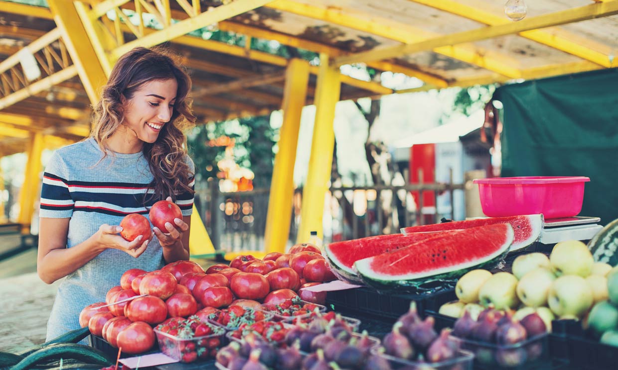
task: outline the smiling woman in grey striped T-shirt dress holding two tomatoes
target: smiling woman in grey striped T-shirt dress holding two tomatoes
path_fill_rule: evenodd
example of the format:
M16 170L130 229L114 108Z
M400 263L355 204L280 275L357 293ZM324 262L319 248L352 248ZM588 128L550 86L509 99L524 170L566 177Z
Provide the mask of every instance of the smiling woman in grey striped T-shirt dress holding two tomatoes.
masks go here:
M103 302L130 268L153 271L188 260L193 162L180 128L194 122L191 80L167 52L138 47L114 65L96 105L90 138L56 151L41 190L37 270L60 284L47 339L78 329L83 307ZM148 216L172 200L182 220L149 240L119 236L129 213Z

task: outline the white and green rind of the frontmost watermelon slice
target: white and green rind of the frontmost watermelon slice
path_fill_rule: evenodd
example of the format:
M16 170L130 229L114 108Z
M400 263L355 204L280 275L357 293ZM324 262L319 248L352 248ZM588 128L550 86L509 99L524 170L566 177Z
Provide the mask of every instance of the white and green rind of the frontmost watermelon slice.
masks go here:
M483 226L481 226L483 227ZM474 261L466 261L459 265L451 265L444 268L438 268L431 271L425 271L420 274L405 274L405 275L386 275L377 273L371 268L371 261L375 257L365 258L356 261L354 268L358 275L362 278L363 283L373 287L380 292L390 292L397 290L399 292L405 290L415 290L418 286L428 284L430 282L451 281L459 279L468 271L473 269L491 269L499 265L510 250L514 238L512 226L509 224L507 228L505 241L491 255L485 256Z

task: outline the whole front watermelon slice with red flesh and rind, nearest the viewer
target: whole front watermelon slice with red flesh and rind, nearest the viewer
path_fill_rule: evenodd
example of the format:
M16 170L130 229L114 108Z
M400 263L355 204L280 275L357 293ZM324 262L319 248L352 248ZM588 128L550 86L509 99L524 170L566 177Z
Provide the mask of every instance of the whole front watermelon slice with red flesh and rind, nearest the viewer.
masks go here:
M431 281L458 279L477 268L493 268L514 239L510 224L454 231L394 252L356 261L363 281L378 290L405 290Z

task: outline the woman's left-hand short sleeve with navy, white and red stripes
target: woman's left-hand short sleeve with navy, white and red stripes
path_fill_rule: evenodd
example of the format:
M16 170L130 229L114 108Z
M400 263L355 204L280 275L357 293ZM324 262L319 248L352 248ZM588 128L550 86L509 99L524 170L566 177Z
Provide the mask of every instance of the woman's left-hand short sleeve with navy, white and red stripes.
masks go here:
M69 171L56 153L49 159L41 184L41 209L39 217L70 218L75 202L69 192Z

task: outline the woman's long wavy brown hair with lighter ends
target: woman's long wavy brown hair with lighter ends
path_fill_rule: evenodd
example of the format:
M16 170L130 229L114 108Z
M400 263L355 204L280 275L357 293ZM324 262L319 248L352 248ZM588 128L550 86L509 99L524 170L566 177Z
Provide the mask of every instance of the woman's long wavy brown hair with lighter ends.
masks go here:
M187 97L191 91L191 79L179 62L179 57L167 49L135 47L122 55L112 68L108 82L103 86L101 99L94 107L94 127L91 137L108 154L106 142L124 121L121 96L130 99L135 91L150 81L175 79L178 83L176 103L172 117L159 132L153 143L145 142L143 155L148 161L154 179L149 187L154 190L155 199L193 190L188 185L194 176L185 158L187 146L184 130L195 123L192 101ZM146 202L146 198L145 198Z

